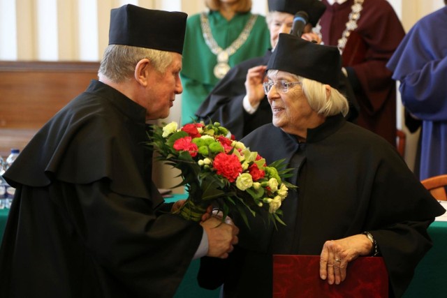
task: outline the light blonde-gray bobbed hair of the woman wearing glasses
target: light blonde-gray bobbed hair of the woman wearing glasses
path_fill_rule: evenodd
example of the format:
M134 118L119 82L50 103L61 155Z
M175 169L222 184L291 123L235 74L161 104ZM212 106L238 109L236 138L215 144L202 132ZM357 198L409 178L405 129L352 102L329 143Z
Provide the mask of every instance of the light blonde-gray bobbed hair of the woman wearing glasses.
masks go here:
M268 70L269 77L277 75L278 70ZM325 84L315 80L300 77L291 73L293 80L302 82L302 93L305 94L307 102L312 110L325 117L342 113L346 116L349 112L349 103L346 97L334 87L330 88L329 98L326 95Z

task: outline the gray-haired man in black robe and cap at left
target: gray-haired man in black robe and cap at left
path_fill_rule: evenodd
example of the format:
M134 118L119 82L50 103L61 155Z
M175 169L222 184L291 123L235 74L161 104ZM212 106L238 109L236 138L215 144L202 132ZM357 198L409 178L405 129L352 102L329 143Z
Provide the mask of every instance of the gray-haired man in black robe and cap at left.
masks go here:
M2 297L173 297L194 257L228 257L237 228L171 214L143 144L146 121L167 117L182 93L186 17L112 9L99 80L3 175L16 192L0 250Z

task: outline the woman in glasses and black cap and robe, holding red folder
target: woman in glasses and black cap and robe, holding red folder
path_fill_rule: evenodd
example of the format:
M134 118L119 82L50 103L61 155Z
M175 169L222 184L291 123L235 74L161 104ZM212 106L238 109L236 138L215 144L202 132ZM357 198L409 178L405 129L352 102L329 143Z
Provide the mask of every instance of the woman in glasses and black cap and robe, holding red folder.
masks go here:
M261 218L250 217L250 228L239 225L240 241L228 259L202 258L199 285L223 284L226 298L270 298L272 255L320 255L319 274L330 285L356 278L349 276L352 260L380 255L390 297L401 297L432 246L428 226L446 210L395 147L346 121L337 47L280 33L267 70L263 87L272 124L241 141L267 163L284 158L296 169L289 182L298 191L281 204L286 225L266 228Z

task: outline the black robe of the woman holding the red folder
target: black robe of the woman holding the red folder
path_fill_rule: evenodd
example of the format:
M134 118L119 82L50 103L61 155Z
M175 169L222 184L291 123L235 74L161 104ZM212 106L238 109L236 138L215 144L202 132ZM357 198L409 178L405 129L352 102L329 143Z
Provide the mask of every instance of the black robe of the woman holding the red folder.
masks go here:
M286 227L274 230L256 216L249 230L234 216L240 244L228 260L201 260L200 285L224 283L223 297L272 297L272 255L320 255L327 240L369 231L388 269L390 297L402 296L432 246L427 227L445 210L394 147L341 115L309 129L305 145L272 124L242 142L267 163L302 157L298 191L281 206Z

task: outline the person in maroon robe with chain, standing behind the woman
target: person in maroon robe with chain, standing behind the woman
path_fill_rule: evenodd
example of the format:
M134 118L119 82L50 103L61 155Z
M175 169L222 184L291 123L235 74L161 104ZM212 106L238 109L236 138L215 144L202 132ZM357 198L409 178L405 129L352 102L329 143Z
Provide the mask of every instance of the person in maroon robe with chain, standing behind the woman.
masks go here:
M322 0L326 10L316 32L342 53L356 95L357 124L396 144L396 83L386 63L405 31L386 0Z

